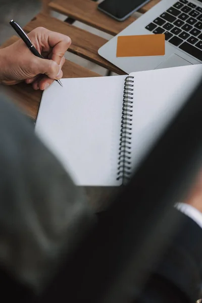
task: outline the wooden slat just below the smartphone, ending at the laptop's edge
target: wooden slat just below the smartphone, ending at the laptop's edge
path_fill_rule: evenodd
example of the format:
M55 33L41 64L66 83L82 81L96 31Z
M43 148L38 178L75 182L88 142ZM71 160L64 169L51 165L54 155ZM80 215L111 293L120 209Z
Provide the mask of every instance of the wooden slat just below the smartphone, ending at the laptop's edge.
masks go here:
M129 17L123 22L116 21L98 11L97 3L92 0L56 0L49 7L111 35L116 35L135 20L134 17Z

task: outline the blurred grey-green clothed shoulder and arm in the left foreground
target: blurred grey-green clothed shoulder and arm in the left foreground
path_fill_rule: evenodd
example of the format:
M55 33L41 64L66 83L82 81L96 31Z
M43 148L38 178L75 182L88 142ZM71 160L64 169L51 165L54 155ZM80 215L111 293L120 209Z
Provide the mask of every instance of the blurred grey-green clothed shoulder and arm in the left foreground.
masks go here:
M1 292L13 279L40 293L93 217L82 189L0 95Z

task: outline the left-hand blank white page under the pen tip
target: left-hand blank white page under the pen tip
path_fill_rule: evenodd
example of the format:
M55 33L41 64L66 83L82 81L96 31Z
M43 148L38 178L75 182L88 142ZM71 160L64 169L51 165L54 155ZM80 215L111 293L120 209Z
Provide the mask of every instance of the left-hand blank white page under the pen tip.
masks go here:
M78 185L120 185L125 76L62 79L42 96L36 133Z

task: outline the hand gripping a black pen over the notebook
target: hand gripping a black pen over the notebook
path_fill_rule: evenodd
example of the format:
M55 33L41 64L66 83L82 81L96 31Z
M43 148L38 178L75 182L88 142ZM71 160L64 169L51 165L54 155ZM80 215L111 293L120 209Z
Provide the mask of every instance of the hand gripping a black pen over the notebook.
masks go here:
M25 80L34 89L46 89L54 79L63 76L64 54L71 44L70 37L43 27L32 30L28 37L37 51L47 59L34 56L19 39L0 50L0 83L13 85Z

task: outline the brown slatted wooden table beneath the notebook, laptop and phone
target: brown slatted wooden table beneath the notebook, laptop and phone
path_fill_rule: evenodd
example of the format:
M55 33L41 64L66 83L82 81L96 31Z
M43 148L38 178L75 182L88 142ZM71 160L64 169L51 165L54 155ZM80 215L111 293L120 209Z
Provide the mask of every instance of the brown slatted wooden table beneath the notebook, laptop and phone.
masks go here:
M160 0L151 0L140 10L140 12L145 13L158 2L160 2ZM80 29L74 26L74 24L68 24L67 22L49 16L48 14L51 10L62 13L67 17L71 17L74 20L83 22L111 35L116 35L131 24L135 20L134 17L130 17L124 22L118 22L98 11L97 3L92 0L55 0L53 2L43 0L43 12L35 16L24 27L26 32L29 32L38 26L43 26L50 30L67 34L72 39L72 44L68 49L68 52L105 67L109 71L113 71L120 75L125 74L122 70L97 54L98 48L107 42L106 39ZM13 36L1 47L6 47L14 43L17 39L18 37ZM99 76L68 60L66 60L64 64L63 74L64 78ZM5 89L22 111L31 119L36 120L42 92L34 91L31 85L25 83L20 83L12 87L5 87ZM85 187L85 190L91 204L95 206L96 210L100 210L100 208L105 207L110 196L119 189L112 189L111 187Z

